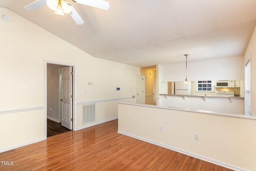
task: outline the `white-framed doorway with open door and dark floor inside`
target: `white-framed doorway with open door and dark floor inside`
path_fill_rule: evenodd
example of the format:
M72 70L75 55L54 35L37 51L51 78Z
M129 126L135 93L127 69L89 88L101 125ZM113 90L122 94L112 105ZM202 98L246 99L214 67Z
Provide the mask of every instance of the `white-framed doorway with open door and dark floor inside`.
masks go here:
M45 68L47 72L45 72L44 137L46 139L51 135L74 130L76 83L74 82L75 65L45 62Z

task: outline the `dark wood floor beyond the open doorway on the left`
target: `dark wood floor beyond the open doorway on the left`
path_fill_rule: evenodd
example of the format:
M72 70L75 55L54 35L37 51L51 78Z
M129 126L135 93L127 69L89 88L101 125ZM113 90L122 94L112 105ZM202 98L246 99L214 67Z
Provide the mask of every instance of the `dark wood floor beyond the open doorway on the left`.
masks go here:
M61 126L61 123L47 119L47 137L58 135L70 131L68 128Z

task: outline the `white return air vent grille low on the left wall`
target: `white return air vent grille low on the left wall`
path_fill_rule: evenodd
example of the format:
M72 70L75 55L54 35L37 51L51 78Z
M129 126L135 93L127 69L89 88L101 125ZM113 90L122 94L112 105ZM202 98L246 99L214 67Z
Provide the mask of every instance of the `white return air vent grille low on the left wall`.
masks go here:
M83 105L82 124L95 122L95 103Z

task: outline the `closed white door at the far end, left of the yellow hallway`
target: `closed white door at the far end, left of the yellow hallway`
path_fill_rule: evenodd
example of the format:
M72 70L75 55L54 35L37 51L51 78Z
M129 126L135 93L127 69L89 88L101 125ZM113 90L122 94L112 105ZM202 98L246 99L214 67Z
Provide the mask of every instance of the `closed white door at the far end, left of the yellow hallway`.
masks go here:
M145 104L145 76L137 75L136 103Z

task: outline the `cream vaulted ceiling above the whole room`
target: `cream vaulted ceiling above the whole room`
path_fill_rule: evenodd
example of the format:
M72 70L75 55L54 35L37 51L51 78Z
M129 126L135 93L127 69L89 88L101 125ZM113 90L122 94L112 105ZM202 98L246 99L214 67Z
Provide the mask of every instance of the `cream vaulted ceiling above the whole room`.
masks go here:
M243 56L256 25L256 0L106 0L109 10L70 2L84 20L58 16L35 0L0 0L95 58L140 67Z

